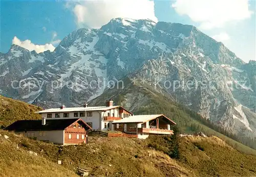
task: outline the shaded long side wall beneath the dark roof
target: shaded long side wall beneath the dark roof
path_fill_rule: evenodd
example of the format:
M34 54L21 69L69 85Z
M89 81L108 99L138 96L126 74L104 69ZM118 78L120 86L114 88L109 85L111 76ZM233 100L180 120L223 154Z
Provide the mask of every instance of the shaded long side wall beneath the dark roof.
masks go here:
M50 141L55 144L64 144L64 130L53 131L25 131L20 132L26 137L36 137L38 141ZM32 136L32 133L34 134Z

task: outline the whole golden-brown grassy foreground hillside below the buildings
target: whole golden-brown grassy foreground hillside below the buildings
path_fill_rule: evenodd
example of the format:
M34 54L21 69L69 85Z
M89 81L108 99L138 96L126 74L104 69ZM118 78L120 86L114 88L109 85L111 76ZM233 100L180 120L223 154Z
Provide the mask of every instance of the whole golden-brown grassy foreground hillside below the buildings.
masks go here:
M180 158L172 159L168 154L173 140L168 136L96 136L89 137L87 145L59 147L3 130L0 134L0 173L6 176L73 176L77 166L89 169L91 176L256 175L256 156L240 153L217 137L182 137Z

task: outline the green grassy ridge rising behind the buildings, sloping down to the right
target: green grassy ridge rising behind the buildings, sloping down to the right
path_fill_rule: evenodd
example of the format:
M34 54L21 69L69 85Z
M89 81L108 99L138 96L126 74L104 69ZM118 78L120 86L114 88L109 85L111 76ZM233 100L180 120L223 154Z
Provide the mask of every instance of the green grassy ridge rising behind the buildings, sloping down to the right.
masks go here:
M189 113L182 107L179 107L168 94L159 93L154 87L146 83L141 84L139 79L132 84L130 79L126 78L124 79L124 85L124 89L111 89L106 91L90 103L93 105L102 105L102 102L112 98L115 103L126 107L125 104L127 98L133 97L129 102L132 102L132 105L138 105L127 108L132 110L134 114L164 114L174 120L179 126L180 131L183 133L194 133L193 130L191 130L191 125L194 125L199 131L203 131L204 134L208 136L218 136L241 152L256 155L256 150L220 134L220 132L203 125L198 120L191 117ZM145 89L138 89L139 86L143 86ZM119 86L119 88L121 88L121 86ZM143 97L140 96L139 99L136 99L139 93L143 95Z

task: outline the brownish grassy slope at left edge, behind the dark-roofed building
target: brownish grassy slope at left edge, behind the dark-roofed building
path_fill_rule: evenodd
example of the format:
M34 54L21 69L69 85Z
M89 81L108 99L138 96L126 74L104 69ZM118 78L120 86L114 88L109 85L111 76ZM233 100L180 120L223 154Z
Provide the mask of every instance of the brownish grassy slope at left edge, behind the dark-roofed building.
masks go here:
M40 119L34 112L40 107L0 95L0 127L8 126L17 120Z

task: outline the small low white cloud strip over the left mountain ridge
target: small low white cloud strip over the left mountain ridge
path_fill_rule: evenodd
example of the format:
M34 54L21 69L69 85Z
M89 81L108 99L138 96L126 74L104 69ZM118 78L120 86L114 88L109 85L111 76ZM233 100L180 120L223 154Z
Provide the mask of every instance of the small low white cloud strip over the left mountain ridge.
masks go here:
M50 50L51 52L54 51L55 47L51 43L46 43L45 45L35 45L31 42L31 40L19 40L16 36L12 39L12 44L18 45L20 47L23 47L29 51L35 50L36 53L45 52L47 50Z

